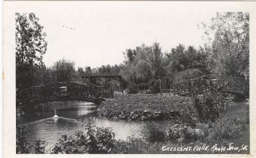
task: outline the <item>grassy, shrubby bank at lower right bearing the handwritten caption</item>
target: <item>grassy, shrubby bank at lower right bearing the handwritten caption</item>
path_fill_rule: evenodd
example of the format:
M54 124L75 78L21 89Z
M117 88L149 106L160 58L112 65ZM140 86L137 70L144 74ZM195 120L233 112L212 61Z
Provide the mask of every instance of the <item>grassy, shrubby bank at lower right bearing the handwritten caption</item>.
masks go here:
M118 154L249 154L249 123L248 118L243 118L200 123L196 124L195 128L184 125L172 126L169 131L161 131L153 127L144 140L129 138L127 141L117 141L112 152ZM154 137L157 139L152 139ZM246 145L248 146L245 147Z

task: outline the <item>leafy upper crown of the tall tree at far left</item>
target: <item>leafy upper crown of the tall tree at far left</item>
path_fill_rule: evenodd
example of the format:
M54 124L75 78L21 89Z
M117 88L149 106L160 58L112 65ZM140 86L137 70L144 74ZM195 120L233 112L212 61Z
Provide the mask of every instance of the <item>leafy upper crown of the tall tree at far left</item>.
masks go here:
M33 65L42 62L47 50L46 33L35 13L16 13L16 63Z

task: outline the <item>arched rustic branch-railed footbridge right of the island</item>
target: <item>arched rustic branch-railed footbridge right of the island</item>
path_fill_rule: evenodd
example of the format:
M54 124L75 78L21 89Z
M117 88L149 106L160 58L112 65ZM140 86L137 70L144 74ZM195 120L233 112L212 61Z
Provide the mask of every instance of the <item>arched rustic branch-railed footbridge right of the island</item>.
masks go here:
M180 96L202 94L205 89L246 97L249 95L250 85L248 78L226 75L204 75L172 84L173 94Z

